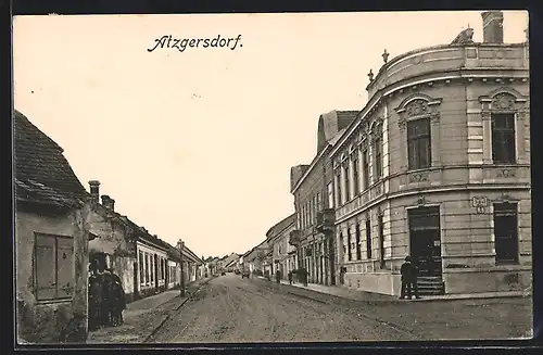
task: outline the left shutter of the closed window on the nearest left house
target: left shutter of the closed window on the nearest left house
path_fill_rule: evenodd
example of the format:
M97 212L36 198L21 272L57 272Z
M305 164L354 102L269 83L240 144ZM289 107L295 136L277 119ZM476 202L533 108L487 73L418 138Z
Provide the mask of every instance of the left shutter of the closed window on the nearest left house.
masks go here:
M52 300L56 293L54 241L51 236L36 234L36 299Z

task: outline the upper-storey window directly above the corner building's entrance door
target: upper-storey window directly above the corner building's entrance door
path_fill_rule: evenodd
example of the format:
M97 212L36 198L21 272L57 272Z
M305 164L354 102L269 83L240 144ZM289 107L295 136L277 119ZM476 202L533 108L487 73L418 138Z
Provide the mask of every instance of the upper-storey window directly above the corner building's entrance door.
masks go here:
M407 122L407 154L411 170L430 167L430 118Z

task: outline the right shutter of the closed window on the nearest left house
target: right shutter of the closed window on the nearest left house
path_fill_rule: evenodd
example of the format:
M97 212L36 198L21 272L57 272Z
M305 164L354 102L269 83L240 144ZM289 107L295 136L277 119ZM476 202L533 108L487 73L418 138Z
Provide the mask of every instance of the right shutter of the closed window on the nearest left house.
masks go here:
M71 297L74 294L74 240L72 238L56 239L56 280L59 299Z

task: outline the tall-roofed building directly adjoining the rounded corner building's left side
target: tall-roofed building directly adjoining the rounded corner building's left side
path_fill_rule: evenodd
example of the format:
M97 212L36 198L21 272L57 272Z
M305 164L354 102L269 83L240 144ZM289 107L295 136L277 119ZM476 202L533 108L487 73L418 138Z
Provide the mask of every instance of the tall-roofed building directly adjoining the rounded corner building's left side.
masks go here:
M298 215L291 244L298 248L298 267L308 271L310 282L336 284L333 169L329 155L334 142L357 113L331 111L320 115L313 162L291 168L291 193Z

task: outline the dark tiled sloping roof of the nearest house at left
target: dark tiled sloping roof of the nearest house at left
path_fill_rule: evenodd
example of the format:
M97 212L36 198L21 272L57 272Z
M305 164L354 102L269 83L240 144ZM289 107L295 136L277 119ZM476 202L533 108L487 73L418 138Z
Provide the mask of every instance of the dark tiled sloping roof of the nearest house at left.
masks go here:
M18 111L13 127L18 202L72 206L89 196L56 142Z

